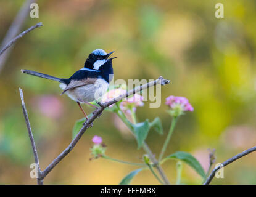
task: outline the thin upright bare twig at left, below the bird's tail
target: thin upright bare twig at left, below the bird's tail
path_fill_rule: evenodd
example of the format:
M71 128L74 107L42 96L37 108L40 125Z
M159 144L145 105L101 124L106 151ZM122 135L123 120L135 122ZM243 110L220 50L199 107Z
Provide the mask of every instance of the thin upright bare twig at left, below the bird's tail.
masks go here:
M25 102L24 102L24 97L23 97L23 91L22 89L20 89L20 99L22 100L22 111L23 111L23 115L26 121L26 125L27 125L27 129L28 129L28 136L30 137L30 142L31 142L31 146L33 149L33 153L34 153L34 158L35 158L35 163L36 163L36 168L38 171L38 185L43 184L43 180L40 179L40 174L41 174L41 170L40 170L40 164L39 164L39 159L38 159L38 152L36 150L36 143L32 134L32 129L30 126L30 121L28 119L28 113L27 113L27 109L25 106Z

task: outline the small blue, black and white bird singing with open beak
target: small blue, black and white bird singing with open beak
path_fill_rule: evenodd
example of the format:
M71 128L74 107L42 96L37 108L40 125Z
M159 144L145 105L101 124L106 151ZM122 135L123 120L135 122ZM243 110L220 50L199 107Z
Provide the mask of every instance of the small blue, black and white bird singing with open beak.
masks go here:
M31 70L21 70L22 73L31 74L45 79L60 82L60 88L80 107L85 118L88 119L80 103L86 103L98 108L89 102L98 101L107 91L109 82L113 79L112 60L117 57L109 58L114 51L107 54L102 49L96 49L89 54L85 61L84 68L76 71L70 78L56 78L48 74L38 73Z

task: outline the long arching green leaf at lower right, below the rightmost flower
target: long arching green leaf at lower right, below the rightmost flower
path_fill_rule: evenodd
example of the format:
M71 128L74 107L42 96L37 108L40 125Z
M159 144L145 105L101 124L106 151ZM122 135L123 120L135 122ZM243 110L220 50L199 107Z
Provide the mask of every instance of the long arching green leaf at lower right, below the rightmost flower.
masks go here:
M204 169L202 168L201 164L190 153L186 153L183 151L177 151L176 153L173 153L173 154L167 156L165 159L179 159L179 160L183 161L184 163L188 164L189 166L191 166L192 168L194 168L194 170L199 175L201 175L202 177L205 177L205 172L204 172Z

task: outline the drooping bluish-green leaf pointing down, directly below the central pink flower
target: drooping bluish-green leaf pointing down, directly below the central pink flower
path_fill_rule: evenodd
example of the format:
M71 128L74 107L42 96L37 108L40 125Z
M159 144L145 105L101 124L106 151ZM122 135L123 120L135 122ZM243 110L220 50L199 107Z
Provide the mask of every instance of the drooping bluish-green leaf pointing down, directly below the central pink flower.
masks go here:
M144 140L146 140L149 129L149 121L147 119L145 122L133 124L133 131L138 142L138 148L141 148Z

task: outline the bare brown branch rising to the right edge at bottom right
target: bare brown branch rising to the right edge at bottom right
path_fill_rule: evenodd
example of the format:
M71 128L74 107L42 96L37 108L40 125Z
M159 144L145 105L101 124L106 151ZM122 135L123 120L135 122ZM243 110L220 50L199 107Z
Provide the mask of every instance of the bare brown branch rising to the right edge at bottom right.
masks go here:
M221 163L224 166L227 166L228 164L232 163L233 161L236 161L237 159L240 159L241 157L243 156L246 156L247 154L249 153L252 153L253 151L256 151L256 147L252 147L252 148L249 148L245 151L242 151L242 153L239 153L235 156L233 156L232 158L224 161L223 163ZM209 177L207 178L207 180L205 181L204 185L209 185L210 182L212 181L215 173L221 168L221 165L218 166L218 167L215 167L215 169L213 169L212 173L209 175Z

